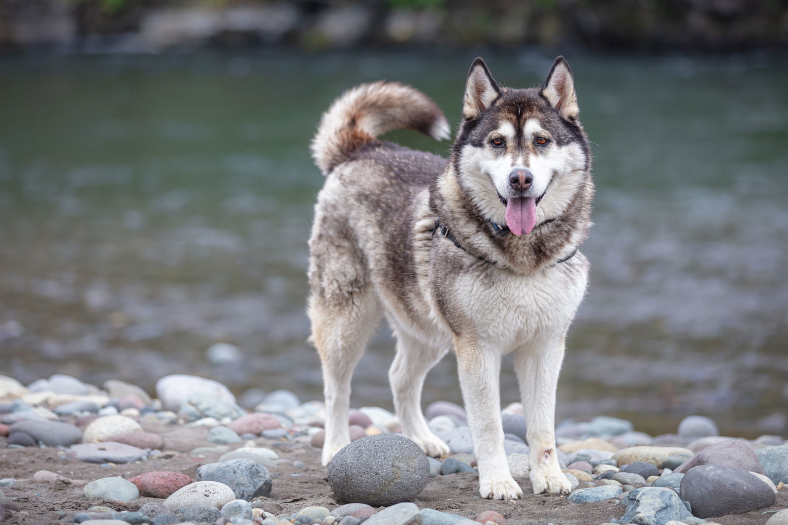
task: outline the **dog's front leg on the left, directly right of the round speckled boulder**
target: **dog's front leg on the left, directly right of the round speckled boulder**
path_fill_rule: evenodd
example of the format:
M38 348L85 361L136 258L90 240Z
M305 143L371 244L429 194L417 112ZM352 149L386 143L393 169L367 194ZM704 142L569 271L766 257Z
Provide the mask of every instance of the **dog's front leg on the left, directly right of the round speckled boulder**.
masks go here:
M515 500L520 486L509 473L500 419L500 351L479 341L455 341L459 384L479 465L479 493L495 500Z

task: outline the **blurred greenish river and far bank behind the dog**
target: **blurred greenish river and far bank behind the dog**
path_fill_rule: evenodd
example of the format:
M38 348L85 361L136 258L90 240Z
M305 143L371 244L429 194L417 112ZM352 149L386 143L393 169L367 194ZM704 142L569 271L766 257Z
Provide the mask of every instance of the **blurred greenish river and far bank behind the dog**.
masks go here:
M786 44L782 0L0 0L0 373L321 399L304 304L322 112L399 80L456 126L474 57L532 87L563 54L598 190L558 419L786 434ZM392 408L392 356L383 326L355 406ZM511 359L502 385L518 400ZM451 356L439 399L460 400Z

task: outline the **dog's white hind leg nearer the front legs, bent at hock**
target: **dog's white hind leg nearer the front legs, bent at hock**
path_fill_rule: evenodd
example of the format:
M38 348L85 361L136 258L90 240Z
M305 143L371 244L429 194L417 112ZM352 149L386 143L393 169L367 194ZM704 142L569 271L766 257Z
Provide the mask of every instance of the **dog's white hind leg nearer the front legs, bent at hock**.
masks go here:
M448 446L429 430L422 413L422 387L427 372L446 355L448 348L433 348L396 330L396 357L388 370L394 408L403 435L422 447L427 456L444 456Z

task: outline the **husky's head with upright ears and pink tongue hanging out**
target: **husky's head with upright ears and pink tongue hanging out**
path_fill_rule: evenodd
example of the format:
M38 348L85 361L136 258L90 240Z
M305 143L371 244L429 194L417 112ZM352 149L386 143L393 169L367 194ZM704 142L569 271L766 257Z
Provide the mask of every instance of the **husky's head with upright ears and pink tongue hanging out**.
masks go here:
M567 61L538 88L501 87L477 58L468 72L463 123L452 149L460 184L481 213L515 235L563 212L590 167ZM537 209L537 207L539 207Z

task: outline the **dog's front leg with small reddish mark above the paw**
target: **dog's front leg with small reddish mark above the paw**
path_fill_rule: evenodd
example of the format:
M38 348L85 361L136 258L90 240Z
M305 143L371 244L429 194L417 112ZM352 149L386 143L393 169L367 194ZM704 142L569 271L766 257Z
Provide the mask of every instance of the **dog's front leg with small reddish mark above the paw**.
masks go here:
M556 385L563 361L564 336L548 337L515 354L515 367L526 412L533 493L568 494L571 483L556 454Z

